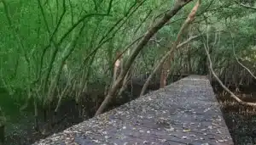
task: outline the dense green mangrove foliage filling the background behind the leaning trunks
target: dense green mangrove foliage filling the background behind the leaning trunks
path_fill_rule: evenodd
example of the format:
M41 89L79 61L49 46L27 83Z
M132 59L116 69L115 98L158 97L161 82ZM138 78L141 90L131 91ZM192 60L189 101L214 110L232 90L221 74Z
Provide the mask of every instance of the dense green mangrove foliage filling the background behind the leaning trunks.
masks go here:
M96 79L109 85L115 53L125 51L125 47L148 31L174 1L6 0L6 3L6 6L0 4L0 14L5 16L0 20L0 87L9 94L22 90L46 100L55 96L51 92L64 90L62 83L80 91L87 82ZM152 37L134 64L137 75L154 68L175 40L194 4L183 8ZM251 49L256 42L255 12L233 1L204 1L183 41L200 35L200 30L204 36L209 35L214 64L227 64L223 62L234 59L233 42L238 56L255 59L251 52L255 52ZM137 42L128 51L136 45ZM190 42L185 47L192 55L193 71L198 70L206 57L202 41ZM186 52L176 53L175 65L188 64ZM124 57L128 55L125 53Z

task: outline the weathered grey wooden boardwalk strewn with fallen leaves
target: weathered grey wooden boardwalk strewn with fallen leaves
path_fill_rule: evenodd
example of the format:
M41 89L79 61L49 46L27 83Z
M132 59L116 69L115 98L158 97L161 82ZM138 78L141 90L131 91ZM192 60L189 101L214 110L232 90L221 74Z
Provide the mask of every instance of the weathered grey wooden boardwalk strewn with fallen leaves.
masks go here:
M212 86L190 75L34 145L234 144Z

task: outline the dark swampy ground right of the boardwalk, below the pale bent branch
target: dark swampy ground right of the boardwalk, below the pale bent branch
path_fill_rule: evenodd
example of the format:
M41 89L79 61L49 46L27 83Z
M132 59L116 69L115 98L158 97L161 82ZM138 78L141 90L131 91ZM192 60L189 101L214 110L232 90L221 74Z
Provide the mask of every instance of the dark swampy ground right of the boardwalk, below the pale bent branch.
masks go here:
M243 101L256 102L256 95L247 96ZM229 95L218 97L222 106L224 120L229 127L235 145L256 144L256 107L241 105Z

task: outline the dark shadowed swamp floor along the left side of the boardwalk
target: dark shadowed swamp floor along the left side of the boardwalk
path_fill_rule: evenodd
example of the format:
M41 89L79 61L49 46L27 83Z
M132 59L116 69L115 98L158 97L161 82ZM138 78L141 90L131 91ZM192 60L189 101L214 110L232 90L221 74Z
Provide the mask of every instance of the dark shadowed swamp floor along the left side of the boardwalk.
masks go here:
M32 104L28 104L26 109L20 109L26 103L26 99L20 99L19 96L10 97L8 93L4 92L1 92L0 96L0 106L7 119L5 125L6 145L30 145L32 142L36 142L41 138L62 131L84 120L79 117L79 111L76 108L77 105L75 102L69 101L62 103L61 112L56 117L56 119L61 120L61 122L55 125L54 128L45 130L48 132L42 134L42 132L38 132L34 129L35 118ZM48 115L53 114L52 111L51 114ZM49 122L44 122L43 109L38 109L38 125L40 131L43 131L44 128L47 129L49 125Z

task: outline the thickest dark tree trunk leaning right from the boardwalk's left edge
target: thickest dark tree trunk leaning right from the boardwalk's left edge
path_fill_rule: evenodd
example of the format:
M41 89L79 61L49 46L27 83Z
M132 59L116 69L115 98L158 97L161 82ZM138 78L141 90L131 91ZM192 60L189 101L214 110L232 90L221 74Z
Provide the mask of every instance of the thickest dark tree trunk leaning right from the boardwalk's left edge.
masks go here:
M131 56L127 59L127 63L125 64L124 70L122 70L121 74L117 78L117 80L113 83L113 86L110 88L108 95L102 102L99 109L97 109L96 114L102 114L104 109L107 108L108 103L112 100L113 95L118 91L119 87L122 85L122 82L125 78L125 75L127 74L128 70L131 67L131 64L134 62L134 60L137 58L138 53L143 49L143 47L148 43L149 39L154 36L154 34L159 31L165 24L168 22L177 12L183 8L186 4L189 2L192 2L193 0L177 0L174 7L167 11L166 14L163 16L163 18L158 21L153 27L151 27L146 34L143 36L143 39L138 43L137 47L134 49L134 51L131 53Z

